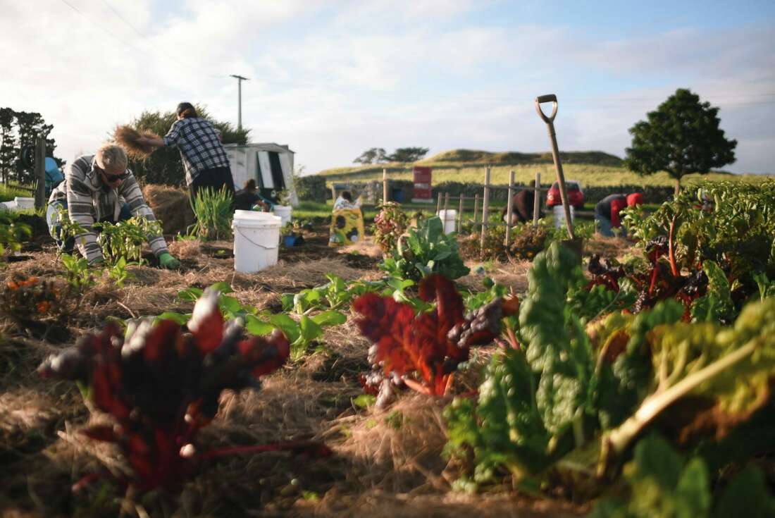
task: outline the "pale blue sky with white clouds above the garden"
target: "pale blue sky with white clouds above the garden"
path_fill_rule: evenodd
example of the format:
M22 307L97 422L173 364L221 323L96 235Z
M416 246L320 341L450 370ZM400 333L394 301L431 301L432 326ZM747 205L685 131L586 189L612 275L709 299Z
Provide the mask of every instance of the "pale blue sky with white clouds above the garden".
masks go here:
M312 174L363 150L624 157L677 88L718 106L735 173L775 173L775 2L0 0L0 106L40 112L57 157L178 102L288 144Z

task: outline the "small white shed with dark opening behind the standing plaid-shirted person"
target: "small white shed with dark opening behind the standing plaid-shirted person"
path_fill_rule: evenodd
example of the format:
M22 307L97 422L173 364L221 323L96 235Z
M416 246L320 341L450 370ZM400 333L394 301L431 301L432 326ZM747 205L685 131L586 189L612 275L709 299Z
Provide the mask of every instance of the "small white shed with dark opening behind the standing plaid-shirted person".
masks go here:
M294 152L288 146L276 143L246 143L226 144L224 149L229 157L237 189L253 179L261 195L275 199L277 192L288 190L291 205L298 205L298 196L293 185Z

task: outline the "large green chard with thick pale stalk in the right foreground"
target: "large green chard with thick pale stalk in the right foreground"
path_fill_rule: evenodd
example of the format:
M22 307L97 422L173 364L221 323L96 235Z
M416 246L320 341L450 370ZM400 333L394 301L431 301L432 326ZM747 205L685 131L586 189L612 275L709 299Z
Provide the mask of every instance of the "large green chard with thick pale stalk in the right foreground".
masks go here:
M447 451L474 483L546 482L567 469L610 475L649 428L669 425L688 447L722 440L768 408L775 299L749 304L732 327L681 322L685 306L668 300L585 328L574 294L587 282L558 243L539 254L516 347L493 358L477 399L446 409Z

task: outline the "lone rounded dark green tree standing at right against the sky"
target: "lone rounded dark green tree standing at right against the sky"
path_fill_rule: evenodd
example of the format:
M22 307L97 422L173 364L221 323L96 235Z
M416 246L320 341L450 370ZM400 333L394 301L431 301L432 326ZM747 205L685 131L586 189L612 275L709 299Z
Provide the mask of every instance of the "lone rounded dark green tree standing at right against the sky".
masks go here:
M718 127L718 108L690 90L677 89L646 116L629 129L632 147L625 165L642 175L667 171L676 181L676 194L684 175L706 174L735 161L737 140L727 140Z

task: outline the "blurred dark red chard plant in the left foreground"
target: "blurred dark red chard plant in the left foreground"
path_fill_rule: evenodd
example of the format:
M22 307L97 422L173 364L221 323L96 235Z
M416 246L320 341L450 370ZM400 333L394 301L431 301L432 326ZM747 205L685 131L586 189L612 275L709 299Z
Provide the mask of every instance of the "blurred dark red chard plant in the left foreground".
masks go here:
M212 456L198 453L196 437L221 392L258 389L260 377L288 359L283 333L244 337L239 320L224 321L217 299L209 291L198 300L190 334L169 319L130 324L126 337L111 323L40 365L44 377L87 386L95 407L111 416L81 433L119 447L132 468L120 484L179 492L197 461Z

